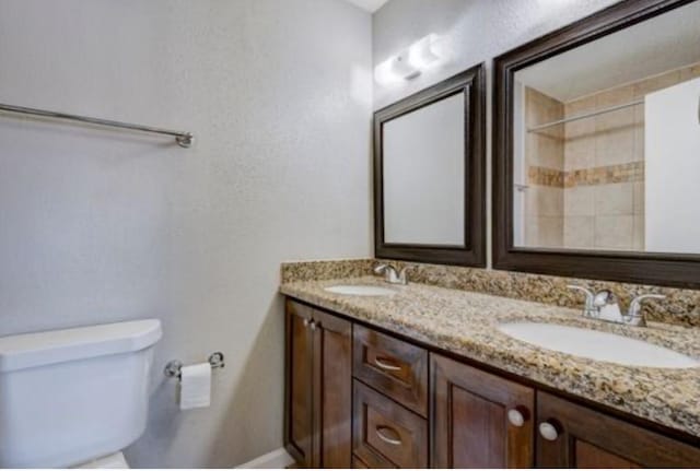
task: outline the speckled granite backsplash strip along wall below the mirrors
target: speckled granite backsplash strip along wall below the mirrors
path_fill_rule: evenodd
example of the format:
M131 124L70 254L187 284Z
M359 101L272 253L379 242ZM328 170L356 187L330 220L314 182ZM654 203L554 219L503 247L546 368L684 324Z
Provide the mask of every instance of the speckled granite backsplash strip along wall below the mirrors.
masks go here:
M644 293L660 293L666 295L666 299L644 304L644 313L650 320L700 327L699 290L375 259L282 263L282 283L366 276L373 274L372 268L380 261L392 263L399 269L410 264L412 269L409 271L409 279L415 283L562 307L583 307L581 293L569 290L568 284L585 285L595 291L611 290L618 296L623 310L627 309L633 296Z

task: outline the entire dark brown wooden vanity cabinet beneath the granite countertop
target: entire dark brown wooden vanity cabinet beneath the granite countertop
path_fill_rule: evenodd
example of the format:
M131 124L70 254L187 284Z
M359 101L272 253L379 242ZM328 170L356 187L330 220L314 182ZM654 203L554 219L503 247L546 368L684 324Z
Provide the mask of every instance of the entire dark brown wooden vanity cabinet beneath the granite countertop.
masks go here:
M303 468L700 468L700 447L291 299L285 341Z

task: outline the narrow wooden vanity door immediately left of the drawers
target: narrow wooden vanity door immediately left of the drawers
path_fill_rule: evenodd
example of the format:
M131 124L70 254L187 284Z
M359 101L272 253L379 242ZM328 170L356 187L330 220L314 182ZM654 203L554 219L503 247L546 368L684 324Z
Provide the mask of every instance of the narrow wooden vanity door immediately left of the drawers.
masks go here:
M314 310L313 468L352 464L352 323ZM318 450L318 452L316 452Z

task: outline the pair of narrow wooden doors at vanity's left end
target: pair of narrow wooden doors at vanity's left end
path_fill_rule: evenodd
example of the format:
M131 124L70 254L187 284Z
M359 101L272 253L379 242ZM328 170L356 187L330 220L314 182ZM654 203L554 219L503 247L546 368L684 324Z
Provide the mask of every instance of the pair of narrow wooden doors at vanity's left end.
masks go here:
M350 468L352 323L287 301L288 451L304 468Z

